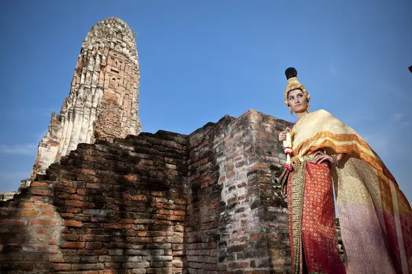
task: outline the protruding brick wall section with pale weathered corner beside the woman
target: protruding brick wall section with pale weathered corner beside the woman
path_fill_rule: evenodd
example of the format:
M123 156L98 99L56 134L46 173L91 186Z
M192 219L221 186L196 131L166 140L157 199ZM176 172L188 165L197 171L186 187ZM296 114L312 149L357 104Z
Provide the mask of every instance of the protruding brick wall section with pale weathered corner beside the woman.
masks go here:
M277 133L287 125L249 111L190 134L189 273L290 270L286 202L275 182L284 163Z

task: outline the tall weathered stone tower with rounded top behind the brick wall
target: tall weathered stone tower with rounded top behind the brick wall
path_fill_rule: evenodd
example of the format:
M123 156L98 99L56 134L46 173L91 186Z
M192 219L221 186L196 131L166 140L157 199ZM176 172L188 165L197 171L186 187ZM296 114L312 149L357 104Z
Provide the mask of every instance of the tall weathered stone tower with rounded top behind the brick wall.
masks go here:
M32 179L53 162L96 138L137 135L139 59L135 38L119 18L106 18L83 41L60 114L52 113L49 130L38 144Z

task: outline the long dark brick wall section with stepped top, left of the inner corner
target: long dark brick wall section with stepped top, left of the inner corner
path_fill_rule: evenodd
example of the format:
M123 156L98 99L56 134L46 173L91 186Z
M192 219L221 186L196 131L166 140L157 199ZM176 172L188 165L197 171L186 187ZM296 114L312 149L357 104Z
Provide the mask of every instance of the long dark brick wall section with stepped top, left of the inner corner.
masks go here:
M186 136L82 144L0 202L2 273L181 273Z

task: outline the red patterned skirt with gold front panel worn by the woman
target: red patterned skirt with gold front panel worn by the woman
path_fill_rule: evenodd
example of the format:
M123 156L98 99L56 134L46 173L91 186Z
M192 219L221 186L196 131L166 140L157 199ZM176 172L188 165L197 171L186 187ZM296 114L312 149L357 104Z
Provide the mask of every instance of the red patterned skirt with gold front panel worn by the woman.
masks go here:
M345 273L329 164L302 162L289 176L287 193L293 273Z

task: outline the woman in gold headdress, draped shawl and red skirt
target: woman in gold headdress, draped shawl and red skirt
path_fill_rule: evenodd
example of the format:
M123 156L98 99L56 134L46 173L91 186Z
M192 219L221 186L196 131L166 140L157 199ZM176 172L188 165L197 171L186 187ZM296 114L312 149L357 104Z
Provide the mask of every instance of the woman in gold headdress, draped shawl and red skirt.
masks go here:
M285 74L285 104L298 119L290 134L279 134L293 154L282 175L293 273L412 273L412 210L396 180L352 128L325 110L308 113L310 95L297 71Z

